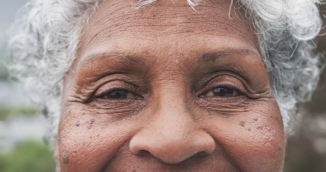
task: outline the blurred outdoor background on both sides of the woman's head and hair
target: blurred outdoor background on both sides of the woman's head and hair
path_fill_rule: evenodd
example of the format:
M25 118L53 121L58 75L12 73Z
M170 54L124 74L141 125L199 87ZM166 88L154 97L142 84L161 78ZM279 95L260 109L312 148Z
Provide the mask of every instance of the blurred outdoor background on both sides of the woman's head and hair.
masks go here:
M0 0L0 172L54 172L53 151L43 141L46 121L28 102L19 83L8 80L6 30L27 0ZM326 4L320 6L325 28L318 51L326 51ZM326 59L325 59L326 60ZM297 117L284 172L326 172L326 72L310 103Z

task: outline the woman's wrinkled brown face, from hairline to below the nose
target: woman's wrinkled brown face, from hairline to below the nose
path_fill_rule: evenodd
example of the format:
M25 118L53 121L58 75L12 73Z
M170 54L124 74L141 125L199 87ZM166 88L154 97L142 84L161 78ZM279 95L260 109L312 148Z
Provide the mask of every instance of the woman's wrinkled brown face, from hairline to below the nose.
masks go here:
M102 3L64 79L61 171L281 171L279 107L229 6Z

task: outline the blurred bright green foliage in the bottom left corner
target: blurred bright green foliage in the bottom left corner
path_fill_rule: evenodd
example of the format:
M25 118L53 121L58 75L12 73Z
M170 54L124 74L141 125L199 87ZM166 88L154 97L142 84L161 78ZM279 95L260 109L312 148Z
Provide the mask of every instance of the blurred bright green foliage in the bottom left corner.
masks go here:
M43 143L26 141L5 155L0 154L1 172L54 172L53 152Z

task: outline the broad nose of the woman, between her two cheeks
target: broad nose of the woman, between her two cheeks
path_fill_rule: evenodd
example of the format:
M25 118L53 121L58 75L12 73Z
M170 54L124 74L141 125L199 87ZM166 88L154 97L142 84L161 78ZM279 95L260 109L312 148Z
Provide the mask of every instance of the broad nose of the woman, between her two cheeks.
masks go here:
M135 154L149 152L168 164L180 163L195 154L207 155L215 150L215 141L197 127L191 114L182 106L158 108L155 119L129 143Z

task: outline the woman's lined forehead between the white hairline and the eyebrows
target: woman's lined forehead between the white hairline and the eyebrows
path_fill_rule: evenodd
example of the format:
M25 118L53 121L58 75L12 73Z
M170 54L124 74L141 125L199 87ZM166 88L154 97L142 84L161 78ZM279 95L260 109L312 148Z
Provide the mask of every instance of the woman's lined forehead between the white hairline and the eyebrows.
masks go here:
M245 48L259 54L250 26L239 19L241 12L230 8L229 1L207 0L196 9L198 12L186 0L161 0L140 9L129 0L107 0L82 31L80 61L103 51L180 58Z

